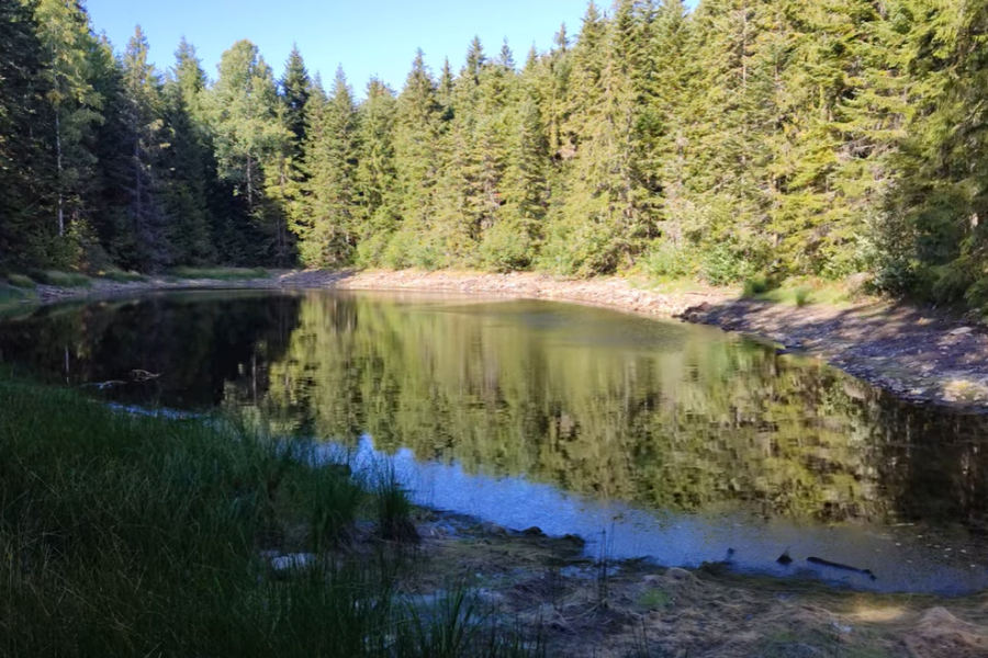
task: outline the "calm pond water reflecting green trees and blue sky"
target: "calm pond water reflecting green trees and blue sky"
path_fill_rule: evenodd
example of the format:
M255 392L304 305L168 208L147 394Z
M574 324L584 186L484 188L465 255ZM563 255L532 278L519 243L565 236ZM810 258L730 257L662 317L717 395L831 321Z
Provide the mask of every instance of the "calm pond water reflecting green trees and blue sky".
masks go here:
M591 555L698 566L733 548L741 571L988 587L988 419L709 328L548 302L184 293L0 322L0 361L71 386L159 374L87 390L389 455L423 503L580 534Z

